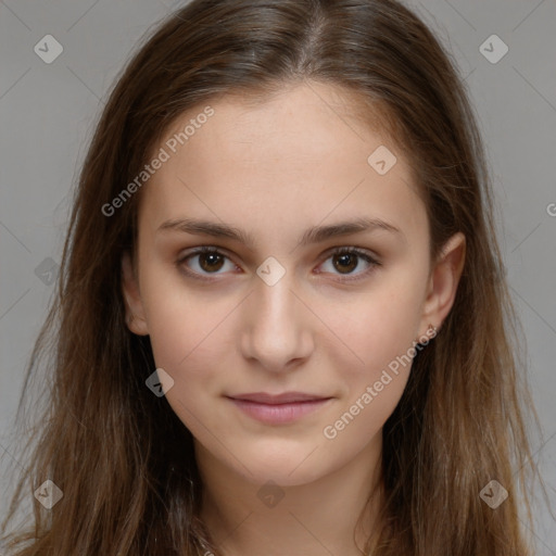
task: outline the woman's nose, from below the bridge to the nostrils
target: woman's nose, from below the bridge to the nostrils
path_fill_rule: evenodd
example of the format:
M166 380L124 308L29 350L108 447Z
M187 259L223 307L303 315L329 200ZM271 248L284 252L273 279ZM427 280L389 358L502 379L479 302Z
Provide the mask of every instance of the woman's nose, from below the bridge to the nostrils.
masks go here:
M312 315L292 290L287 273L274 286L258 280L245 300L242 354L271 372L296 368L314 351Z

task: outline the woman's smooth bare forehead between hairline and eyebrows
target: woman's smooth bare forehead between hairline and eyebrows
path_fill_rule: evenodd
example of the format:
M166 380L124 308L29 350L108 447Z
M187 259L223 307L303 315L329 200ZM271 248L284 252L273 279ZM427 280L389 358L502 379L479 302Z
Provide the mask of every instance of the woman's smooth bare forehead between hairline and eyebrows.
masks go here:
M214 112L201 117L207 105ZM266 100L223 97L188 111L155 149L168 156L142 191L140 226L154 230L194 215L276 240L285 227L370 215L410 233L425 216L410 169L383 127L362 121L361 111L323 84Z

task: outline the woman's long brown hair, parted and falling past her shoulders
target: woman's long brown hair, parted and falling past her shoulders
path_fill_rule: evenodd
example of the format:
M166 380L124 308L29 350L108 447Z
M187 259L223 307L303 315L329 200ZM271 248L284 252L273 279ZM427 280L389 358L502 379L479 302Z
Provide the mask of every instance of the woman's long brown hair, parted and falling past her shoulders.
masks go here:
M453 233L467 240L453 308L416 355L383 428L383 527L365 554L530 554L518 500L531 521L532 405L483 146L450 55L392 0L193 0L129 62L83 167L56 296L22 392L20 424L30 378L43 369L47 403L21 432L28 446L38 441L20 458L28 466L10 513L26 488L35 521L5 538L10 554L192 555L204 553L202 543L218 554L198 518L191 433L146 387L155 369L149 338L125 323L121 260L135 247L140 195L109 216L103 206L185 111L224 94L264 99L301 81L342 87L362 117L379 108L419 184L433 257ZM46 479L63 492L51 510L33 497ZM493 479L509 492L496 509L479 495Z

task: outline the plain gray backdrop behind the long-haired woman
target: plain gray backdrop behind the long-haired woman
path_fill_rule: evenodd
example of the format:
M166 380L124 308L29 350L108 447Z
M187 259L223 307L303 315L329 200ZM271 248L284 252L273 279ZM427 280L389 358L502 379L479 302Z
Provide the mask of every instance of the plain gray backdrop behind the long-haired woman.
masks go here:
M453 53L470 88L488 149L511 292L544 439L534 439L556 507L556 2L413 0ZM180 2L0 1L0 464L14 463L10 434L25 365L60 262L71 191L96 117L137 40ZM493 34L508 53L491 63ZM46 35L63 46L45 63ZM41 42L42 43L42 42ZM493 46L494 54L500 52ZM488 47L490 48L490 47ZM0 482L0 518L8 484ZM556 555L556 526L535 509L540 555Z

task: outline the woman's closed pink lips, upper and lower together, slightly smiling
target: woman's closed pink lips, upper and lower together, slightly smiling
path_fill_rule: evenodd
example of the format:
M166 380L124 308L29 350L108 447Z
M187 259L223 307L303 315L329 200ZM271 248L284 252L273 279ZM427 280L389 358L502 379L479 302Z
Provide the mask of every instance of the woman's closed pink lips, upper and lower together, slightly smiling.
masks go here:
M332 397L304 392L254 392L226 396L250 417L267 425L293 422L325 406Z

